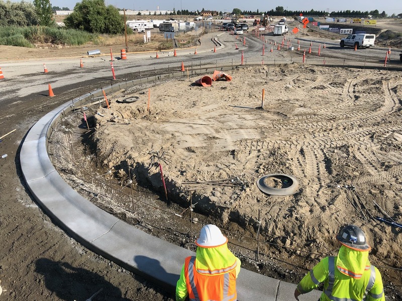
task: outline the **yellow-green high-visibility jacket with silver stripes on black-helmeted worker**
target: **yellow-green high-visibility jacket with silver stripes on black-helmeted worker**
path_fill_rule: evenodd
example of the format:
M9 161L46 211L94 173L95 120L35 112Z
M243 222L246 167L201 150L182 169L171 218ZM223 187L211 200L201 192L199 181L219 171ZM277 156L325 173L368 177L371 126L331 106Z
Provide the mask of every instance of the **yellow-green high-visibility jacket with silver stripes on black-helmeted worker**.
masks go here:
M381 274L375 266L368 264L362 275L354 278L337 268L337 259L333 256L322 259L300 281L297 290L306 293L324 282L321 301L385 301Z

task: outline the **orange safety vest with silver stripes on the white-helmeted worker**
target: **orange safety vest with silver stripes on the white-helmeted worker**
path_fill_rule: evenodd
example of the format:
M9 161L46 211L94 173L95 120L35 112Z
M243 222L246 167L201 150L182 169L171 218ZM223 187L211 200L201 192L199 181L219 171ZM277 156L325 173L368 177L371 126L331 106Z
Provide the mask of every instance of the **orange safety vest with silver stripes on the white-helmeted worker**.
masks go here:
M190 301L236 301L236 265L218 270L197 270L195 256L184 261L184 276Z

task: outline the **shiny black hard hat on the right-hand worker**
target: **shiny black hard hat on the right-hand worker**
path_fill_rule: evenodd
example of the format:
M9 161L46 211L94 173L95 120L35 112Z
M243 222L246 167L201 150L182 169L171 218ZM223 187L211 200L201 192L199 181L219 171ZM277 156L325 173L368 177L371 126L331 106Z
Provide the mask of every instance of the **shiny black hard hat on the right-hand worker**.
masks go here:
M355 225L341 228L336 239L344 246L357 251L370 251L371 247L366 242L366 235L362 229Z

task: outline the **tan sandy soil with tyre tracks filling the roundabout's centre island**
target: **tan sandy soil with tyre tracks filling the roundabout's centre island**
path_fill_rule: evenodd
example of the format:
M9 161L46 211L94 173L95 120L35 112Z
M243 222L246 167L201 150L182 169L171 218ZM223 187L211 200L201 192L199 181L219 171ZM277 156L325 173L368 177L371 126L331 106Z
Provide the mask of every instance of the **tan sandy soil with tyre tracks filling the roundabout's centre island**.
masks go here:
M90 108L87 114L94 115L96 130L85 140L92 151L87 158L92 158L99 174L109 165L122 187L129 184L129 176L135 177L138 187L151 187L164 199L156 163L156 156L162 157L158 163L163 166L169 201L182 206L174 207L178 214L188 207L186 191L190 190L194 212L203 222L213 221L255 237L260 212L260 235L285 247L262 247L268 257L311 268L320 256L305 256L298 250L335 254L334 233L354 223L368 236L374 264L399 267L400 229L371 216L388 214L401 221L402 75L297 64L250 67L229 74L232 81L217 81L211 87L195 85L199 77L152 86L149 113L149 86L112 99L110 109ZM134 96L137 101L122 102ZM88 183L71 180L71 173L66 178L87 191L82 186ZM297 192L290 196L261 193L256 181L275 173L296 177ZM235 179L229 185L186 184L229 178ZM283 185L280 181L267 184ZM135 205L133 214L127 199L100 201L99 195L106 190L96 192L94 202L100 207L133 224L144 219L138 216L143 211L147 223L152 223L154 211ZM168 227L174 231L178 224ZM183 244L185 239L171 239L189 245ZM247 246L241 237L235 244ZM241 249L238 252L244 254ZM395 289L391 282L401 284L400 271L380 270L390 285L387 290ZM299 279L297 275L282 277Z

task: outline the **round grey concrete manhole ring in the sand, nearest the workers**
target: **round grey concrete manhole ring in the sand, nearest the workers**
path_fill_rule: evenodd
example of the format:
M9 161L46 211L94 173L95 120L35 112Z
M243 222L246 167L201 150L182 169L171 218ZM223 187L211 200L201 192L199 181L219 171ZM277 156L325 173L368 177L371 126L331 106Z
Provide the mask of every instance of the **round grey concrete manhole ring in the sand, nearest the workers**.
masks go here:
M290 175L271 174L259 178L257 180L257 187L263 193L269 195L289 196L297 191L298 181Z

